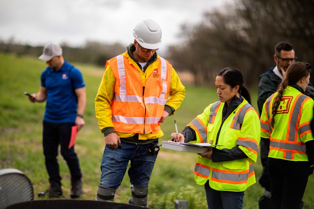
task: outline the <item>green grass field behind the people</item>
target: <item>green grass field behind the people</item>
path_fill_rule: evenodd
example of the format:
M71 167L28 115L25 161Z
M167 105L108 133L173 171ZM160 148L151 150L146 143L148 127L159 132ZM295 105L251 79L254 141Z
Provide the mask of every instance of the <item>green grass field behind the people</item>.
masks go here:
M79 132L76 152L83 173L82 200L94 200L100 179L100 163L105 142L95 118L94 99L104 73L103 67L73 63L83 73L87 89L87 106L84 128ZM48 186L44 155L42 150L42 118L45 103L30 103L24 91L37 92L40 87L40 74L46 63L30 57L15 57L0 54L0 169L15 168L24 172L32 181L35 199L37 193ZM213 84L214 86L214 84ZM256 107L256 92L252 101ZM161 125L164 136L161 141L170 140L175 131L174 120L181 131L208 104L218 100L215 88L186 86L186 97L175 115ZM162 149L149 184L149 207L174 208L175 200L188 200L188 208L207 208L203 186L196 185L193 178L197 154L181 153ZM70 198L70 175L66 162L58 156L62 176L64 198ZM261 174L260 161L254 165L255 174ZM304 209L314 207L313 175L310 176L303 197ZM245 191L244 208L258 208L258 199L263 188L254 184ZM129 178L125 175L118 188L115 201L127 203L130 199Z

